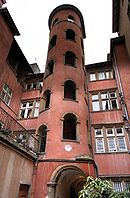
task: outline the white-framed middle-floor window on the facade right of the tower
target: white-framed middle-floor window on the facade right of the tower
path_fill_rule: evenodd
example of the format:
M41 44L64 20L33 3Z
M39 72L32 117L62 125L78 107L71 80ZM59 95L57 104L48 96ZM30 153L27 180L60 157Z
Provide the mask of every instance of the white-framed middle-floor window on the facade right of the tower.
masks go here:
M92 94L93 111L106 111L118 108L116 91L106 91Z

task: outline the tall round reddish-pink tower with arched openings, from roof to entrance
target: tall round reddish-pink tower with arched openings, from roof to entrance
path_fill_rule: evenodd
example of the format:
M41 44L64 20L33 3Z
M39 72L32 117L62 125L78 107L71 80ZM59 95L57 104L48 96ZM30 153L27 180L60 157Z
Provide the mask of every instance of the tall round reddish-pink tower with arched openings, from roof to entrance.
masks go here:
M50 14L49 29L35 196L72 198L82 178L95 175L87 128L82 14L73 5L58 6Z

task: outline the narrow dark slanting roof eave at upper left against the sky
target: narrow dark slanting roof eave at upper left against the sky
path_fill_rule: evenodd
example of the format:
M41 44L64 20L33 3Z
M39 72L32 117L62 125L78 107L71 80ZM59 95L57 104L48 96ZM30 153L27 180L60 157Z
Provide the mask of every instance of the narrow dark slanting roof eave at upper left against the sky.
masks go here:
M20 33L8 11L7 8L0 8L0 14L3 16L3 18L5 19L8 27L10 28L11 32L14 34L14 36L19 36Z

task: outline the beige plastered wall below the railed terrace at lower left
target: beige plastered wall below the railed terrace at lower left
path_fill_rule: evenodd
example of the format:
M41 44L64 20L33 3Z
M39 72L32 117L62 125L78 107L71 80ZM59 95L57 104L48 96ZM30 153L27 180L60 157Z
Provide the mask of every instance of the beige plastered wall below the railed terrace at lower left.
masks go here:
M18 197L20 183L30 185L31 190L33 166L33 161L0 144L0 197Z

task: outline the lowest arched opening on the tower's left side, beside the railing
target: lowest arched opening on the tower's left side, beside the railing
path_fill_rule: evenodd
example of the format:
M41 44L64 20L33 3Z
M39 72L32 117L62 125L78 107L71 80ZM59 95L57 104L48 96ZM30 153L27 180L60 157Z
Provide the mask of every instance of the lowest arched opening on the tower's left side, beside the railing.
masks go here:
M39 139L39 151L45 152L46 149L46 138L47 138L47 127L46 125L41 125L38 129L38 139Z

